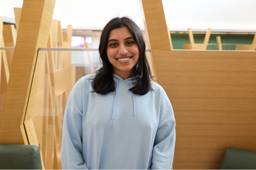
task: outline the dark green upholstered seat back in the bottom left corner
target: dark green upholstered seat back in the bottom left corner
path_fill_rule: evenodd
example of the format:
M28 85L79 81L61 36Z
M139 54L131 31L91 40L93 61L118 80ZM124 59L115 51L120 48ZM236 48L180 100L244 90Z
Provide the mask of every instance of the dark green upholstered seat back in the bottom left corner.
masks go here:
M0 145L0 169L42 169L39 147Z

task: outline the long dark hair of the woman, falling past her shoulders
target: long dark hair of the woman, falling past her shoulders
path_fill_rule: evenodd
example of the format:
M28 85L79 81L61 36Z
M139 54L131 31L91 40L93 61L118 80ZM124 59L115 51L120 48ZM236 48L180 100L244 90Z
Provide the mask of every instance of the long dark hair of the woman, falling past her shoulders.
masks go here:
M92 93L96 92L104 95L115 90L113 66L107 57L107 45L110 31L122 27L127 27L130 30L139 49L139 58L134 66L134 76L137 84L129 90L138 95L145 95L149 90L152 90L150 80L153 77L145 53L146 44L142 32L130 18L117 17L107 23L100 36L99 54L103 67L96 72L94 79L92 79L92 87L94 88L94 91L91 91Z

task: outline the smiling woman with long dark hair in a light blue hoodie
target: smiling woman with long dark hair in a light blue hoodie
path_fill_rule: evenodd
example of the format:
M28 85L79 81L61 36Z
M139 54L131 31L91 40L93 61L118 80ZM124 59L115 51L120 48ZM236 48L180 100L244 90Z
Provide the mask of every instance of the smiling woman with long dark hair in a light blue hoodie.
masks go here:
M145 48L131 19L104 27L102 65L67 100L63 169L171 169L176 123L164 89L150 81Z

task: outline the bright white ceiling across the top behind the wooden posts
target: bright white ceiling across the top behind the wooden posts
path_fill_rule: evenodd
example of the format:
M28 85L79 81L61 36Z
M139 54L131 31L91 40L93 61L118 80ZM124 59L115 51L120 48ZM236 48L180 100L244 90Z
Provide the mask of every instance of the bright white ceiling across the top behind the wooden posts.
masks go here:
M14 18L22 0L0 0L0 16ZM162 0L170 30L255 30L256 0ZM144 28L139 0L56 0L53 19L76 29L102 29L113 17L129 16Z

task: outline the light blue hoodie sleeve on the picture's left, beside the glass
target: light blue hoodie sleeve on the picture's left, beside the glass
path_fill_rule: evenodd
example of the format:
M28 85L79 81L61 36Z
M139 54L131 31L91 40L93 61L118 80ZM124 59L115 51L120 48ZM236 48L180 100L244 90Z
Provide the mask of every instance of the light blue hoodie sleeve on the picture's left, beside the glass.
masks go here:
M83 160L83 81L80 79L68 96L62 131L61 164L63 169L88 169Z

